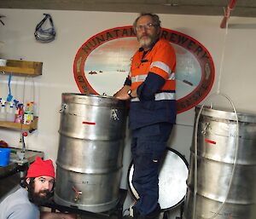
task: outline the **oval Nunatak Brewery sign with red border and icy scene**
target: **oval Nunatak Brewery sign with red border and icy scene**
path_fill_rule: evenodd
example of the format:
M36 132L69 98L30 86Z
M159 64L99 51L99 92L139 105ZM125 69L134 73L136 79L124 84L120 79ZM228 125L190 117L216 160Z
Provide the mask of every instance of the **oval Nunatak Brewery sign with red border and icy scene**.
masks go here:
M172 43L177 55L177 112L200 103L212 89L214 66L207 49L181 32L162 28L161 37ZM73 64L82 94L113 95L125 82L131 56L139 48L132 26L116 27L90 37Z

